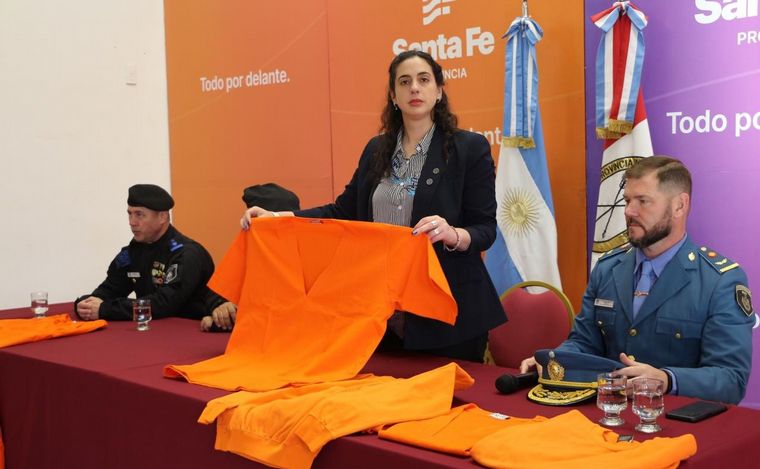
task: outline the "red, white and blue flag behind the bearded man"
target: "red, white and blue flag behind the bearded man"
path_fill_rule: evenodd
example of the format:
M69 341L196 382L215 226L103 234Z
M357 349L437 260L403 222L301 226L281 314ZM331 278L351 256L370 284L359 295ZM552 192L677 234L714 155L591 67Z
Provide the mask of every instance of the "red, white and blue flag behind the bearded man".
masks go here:
M630 2L591 17L604 33L596 56L596 134L605 139L591 269L605 252L628 242L623 174L652 156L641 69L647 18Z

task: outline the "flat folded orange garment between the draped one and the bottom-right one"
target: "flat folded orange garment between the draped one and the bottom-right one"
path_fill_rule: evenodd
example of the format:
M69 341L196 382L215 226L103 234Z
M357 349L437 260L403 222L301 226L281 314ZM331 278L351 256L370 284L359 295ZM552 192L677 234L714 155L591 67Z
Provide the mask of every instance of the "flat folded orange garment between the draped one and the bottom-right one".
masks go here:
M380 438L387 440L458 456L469 456L472 445L491 433L545 420L546 417L541 416L532 419L508 417L498 412L483 410L475 404L465 404L439 417L397 423L382 428L378 434Z

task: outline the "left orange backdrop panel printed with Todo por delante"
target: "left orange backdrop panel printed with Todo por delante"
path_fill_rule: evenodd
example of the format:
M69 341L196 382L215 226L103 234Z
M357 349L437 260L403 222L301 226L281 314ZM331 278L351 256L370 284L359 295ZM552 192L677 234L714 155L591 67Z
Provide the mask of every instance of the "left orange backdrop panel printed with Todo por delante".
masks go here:
M332 198L326 5L164 7L174 218L219 260L243 188L277 182L303 206Z

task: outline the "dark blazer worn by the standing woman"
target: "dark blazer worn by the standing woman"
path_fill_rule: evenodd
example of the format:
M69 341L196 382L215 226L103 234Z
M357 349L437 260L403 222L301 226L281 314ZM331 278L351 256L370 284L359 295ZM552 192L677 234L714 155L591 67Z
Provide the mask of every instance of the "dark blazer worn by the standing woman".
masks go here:
M456 324L409 314L404 326L404 347L447 347L480 336L506 318L499 296L480 257L496 238L495 170L488 141L479 134L457 131L443 160L443 132L436 131L422 167L412 206L411 226L420 218L439 215L470 233L467 251L448 252L442 243L434 249L458 306ZM380 142L372 138L362 152L351 182L332 204L296 211L296 216L372 221L375 184L370 159Z

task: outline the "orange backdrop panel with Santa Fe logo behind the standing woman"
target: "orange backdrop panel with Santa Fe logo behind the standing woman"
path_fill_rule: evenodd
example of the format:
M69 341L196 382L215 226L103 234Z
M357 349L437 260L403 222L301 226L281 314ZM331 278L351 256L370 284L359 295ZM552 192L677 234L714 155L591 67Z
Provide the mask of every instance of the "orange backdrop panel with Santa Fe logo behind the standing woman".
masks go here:
M586 284L583 6L532 2L544 29L538 44L539 100L559 231L559 266L576 310ZM571 2L572 3L572 2ZM340 193L367 140L377 133L387 69L396 53L423 48L447 75L460 127L482 132L499 154L504 97L502 34L521 2L443 2L423 24L422 2L328 0L334 189Z

